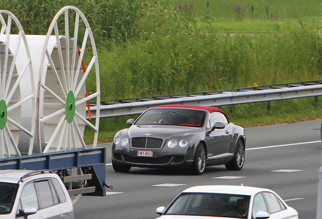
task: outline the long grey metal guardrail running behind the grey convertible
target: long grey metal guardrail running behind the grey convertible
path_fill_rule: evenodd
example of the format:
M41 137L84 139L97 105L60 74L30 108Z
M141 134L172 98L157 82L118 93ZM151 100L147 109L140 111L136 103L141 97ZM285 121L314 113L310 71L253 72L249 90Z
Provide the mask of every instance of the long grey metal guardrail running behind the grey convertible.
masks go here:
M322 96L322 81L101 101L100 118L137 115L152 106L163 104L224 106L313 96ZM93 104L91 103L90 110L92 118L95 118L96 106Z

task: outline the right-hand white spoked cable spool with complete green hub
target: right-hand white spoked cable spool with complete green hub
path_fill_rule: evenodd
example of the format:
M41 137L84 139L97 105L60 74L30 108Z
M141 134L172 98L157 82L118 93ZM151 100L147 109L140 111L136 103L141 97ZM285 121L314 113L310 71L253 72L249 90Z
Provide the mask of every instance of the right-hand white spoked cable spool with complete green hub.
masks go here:
M71 11L71 13L69 13ZM65 36L60 35L58 20L64 15ZM75 23L70 24L70 16ZM83 23L82 23L83 21ZM81 52L78 55L78 28L85 25ZM69 35L73 26L73 37ZM52 32L54 35L51 35ZM96 45L91 27L84 14L76 7L66 6L53 18L46 37L33 36L43 46L37 78L36 128L39 152L86 148L85 126L94 130L93 145L96 147L99 128L99 107L96 110L95 125L86 119L86 103L96 98L100 105L100 80ZM44 43L43 43L44 42ZM29 42L28 42L29 43ZM31 44L29 44L31 47ZM91 51L89 51L89 48ZM92 58L84 72L84 53ZM37 52L37 54L39 54ZM93 68L94 67L94 68ZM95 71L96 90L86 96L86 79Z

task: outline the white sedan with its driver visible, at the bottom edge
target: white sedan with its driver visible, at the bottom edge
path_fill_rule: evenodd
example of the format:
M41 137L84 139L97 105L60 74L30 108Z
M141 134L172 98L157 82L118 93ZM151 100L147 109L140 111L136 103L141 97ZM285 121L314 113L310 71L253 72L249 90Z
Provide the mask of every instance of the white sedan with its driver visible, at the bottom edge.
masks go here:
M169 207L158 207L158 219L270 218L298 219L298 212L269 189L247 186L195 186Z

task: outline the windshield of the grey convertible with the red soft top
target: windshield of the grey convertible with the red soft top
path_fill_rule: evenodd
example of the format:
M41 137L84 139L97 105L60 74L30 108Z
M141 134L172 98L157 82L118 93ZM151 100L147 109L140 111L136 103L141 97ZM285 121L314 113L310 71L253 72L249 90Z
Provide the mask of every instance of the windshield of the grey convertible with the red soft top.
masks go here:
M176 125L202 127L206 113L196 109L154 108L142 114L135 125Z

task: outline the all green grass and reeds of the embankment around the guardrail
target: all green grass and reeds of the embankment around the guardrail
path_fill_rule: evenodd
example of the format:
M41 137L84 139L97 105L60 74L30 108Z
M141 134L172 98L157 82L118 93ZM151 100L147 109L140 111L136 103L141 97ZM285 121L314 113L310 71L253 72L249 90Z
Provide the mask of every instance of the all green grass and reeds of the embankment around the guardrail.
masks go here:
M27 34L46 34L62 6L81 9L98 47L102 100L321 79L322 2L180 3L189 10L178 9L178 0L16 0L3 1L2 8L22 21ZM242 34L227 36L232 32ZM89 77L87 90L92 86ZM317 118L322 100L274 101L270 111L266 102L222 108L233 123L247 127ZM99 141L112 140L128 118L117 124L101 119ZM86 129L85 139L90 134Z

